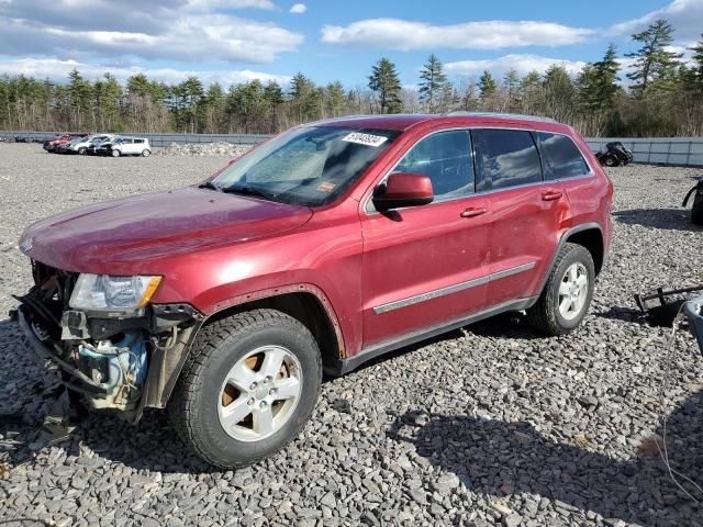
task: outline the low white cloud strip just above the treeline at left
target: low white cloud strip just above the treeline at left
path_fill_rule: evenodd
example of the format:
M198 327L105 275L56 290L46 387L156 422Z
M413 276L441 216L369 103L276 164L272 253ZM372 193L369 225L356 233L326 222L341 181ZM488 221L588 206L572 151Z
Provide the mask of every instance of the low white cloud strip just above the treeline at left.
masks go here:
M220 82L222 86L236 85L248 80L259 79L263 82L275 80L281 85L290 82L291 77L287 75L271 75L263 71L243 70L178 70L172 68L143 68L140 66L102 66L86 64L77 60L59 60L56 58L20 58L0 60L0 71L8 75L24 75L37 79L48 78L54 81L66 81L68 72L78 69L88 79L98 79L104 74L113 75L118 80L124 82L129 77L136 74L144 74L150 80L164 82L180 82L188 77L198 77L205 86Z

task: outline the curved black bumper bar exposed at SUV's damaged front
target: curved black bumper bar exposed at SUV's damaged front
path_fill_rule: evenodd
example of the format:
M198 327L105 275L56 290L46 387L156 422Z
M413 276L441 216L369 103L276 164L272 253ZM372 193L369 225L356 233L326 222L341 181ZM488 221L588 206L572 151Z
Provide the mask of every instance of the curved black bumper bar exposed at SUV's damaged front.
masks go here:
M22 339L42 367L46 368L48 362L47 369L57 372L62 382L71 390L97 399L105 396L107 390L103 385L94 382L77 367L59 358L51 346L47 346L36 336L30 324L26 307L23 305L16 310L16 321L22 332Z

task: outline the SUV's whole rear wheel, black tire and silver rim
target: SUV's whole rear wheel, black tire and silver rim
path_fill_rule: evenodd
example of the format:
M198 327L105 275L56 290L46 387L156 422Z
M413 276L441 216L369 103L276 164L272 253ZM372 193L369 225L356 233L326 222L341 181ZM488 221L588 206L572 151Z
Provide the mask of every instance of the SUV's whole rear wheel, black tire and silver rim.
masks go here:
M547 335L561 335L576 329L591 305L595 268L588 249L565 244L537 303L527 310L527 321Z

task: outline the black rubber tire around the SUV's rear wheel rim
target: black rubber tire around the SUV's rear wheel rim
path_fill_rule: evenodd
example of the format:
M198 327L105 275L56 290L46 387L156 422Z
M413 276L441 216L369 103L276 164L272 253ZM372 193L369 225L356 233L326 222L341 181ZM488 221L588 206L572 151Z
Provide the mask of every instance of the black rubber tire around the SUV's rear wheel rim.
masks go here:
M559 311L559 287L565 278L567 269L573 264L581 264L585 268L588 278L588 293L585 302L573 318L565 318ZM547 283L539 295L537 303L527 310L527 321L529 325L546 335L562 335L572 332L583 321L589 311L591 299L593 298L593 285L595 282L595 267L593 258L588 249L577 244L565 244L559 249L554 267L547 277Z

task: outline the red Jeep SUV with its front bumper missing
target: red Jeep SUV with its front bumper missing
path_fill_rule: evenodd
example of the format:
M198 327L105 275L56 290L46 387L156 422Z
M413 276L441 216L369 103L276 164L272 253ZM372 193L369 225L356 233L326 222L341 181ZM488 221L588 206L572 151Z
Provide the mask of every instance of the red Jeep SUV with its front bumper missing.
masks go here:
M323 370L506 311L574 329L612 197L549 120L323 121L201 184L32 225L35 285L14 314L74 401L129 419L168 407L196 452L238 467L300 431Z

